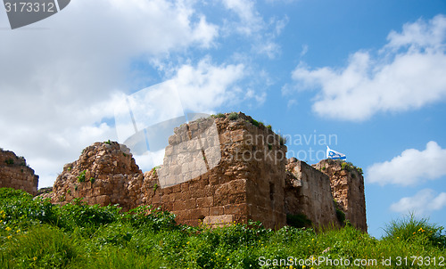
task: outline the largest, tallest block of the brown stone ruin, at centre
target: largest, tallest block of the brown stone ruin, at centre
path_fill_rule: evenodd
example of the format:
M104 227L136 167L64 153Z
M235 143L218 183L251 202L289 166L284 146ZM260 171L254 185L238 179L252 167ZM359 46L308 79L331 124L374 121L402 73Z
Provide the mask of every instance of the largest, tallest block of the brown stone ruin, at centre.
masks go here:
M280 228L285 152L278 135L243 113L180 126L169 138L163 167L145 174L139 202L172 211L183 224L253 219Z

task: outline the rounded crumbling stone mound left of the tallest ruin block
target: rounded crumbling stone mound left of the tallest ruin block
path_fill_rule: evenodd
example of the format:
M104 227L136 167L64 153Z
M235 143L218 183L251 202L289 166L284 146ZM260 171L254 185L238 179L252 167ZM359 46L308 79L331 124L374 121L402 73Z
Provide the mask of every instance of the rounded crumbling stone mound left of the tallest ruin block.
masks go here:
M65 204L83 198L88 204L119 204L135 208L136 198L130 196L134 182L143 181L128 148L116 142L94 143L79 159L63 167L57 176L51 198Z

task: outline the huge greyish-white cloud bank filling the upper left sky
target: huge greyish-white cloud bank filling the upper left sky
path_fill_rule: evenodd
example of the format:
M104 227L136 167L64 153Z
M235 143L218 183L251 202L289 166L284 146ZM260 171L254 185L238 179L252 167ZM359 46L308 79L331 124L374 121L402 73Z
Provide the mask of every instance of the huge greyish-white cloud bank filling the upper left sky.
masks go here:
M132 60L210 48L217 37L193 1L164 0L71 1L46 20L0 31L0 146L26 157L39 186L51 185L82 148L116 140L113 109L136 86Z

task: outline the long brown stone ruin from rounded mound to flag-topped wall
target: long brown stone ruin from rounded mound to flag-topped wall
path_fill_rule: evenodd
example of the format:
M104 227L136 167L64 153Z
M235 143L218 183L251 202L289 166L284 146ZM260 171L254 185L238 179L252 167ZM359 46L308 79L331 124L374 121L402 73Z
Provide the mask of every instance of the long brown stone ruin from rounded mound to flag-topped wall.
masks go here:
M364 178L326 159L310 166L286 159L284 140L243 113L200 118L175 128L164 162L143 173L124 145L94 143L63 167L54 203L140 205L174 213L180 224L220 225L249 219L278 229L287 215L314 226L341 225L337 211L367 231Z

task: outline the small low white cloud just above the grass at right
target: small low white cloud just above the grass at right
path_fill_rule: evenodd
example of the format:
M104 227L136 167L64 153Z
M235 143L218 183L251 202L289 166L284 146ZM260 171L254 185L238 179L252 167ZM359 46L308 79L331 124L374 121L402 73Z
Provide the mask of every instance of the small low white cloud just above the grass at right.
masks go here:
M434 190L424 189L412 197L401 198L398 202L393 203L390 209L394 212L404 214L413 212L417 216L423 216L446 207L446 192L436 194Z

